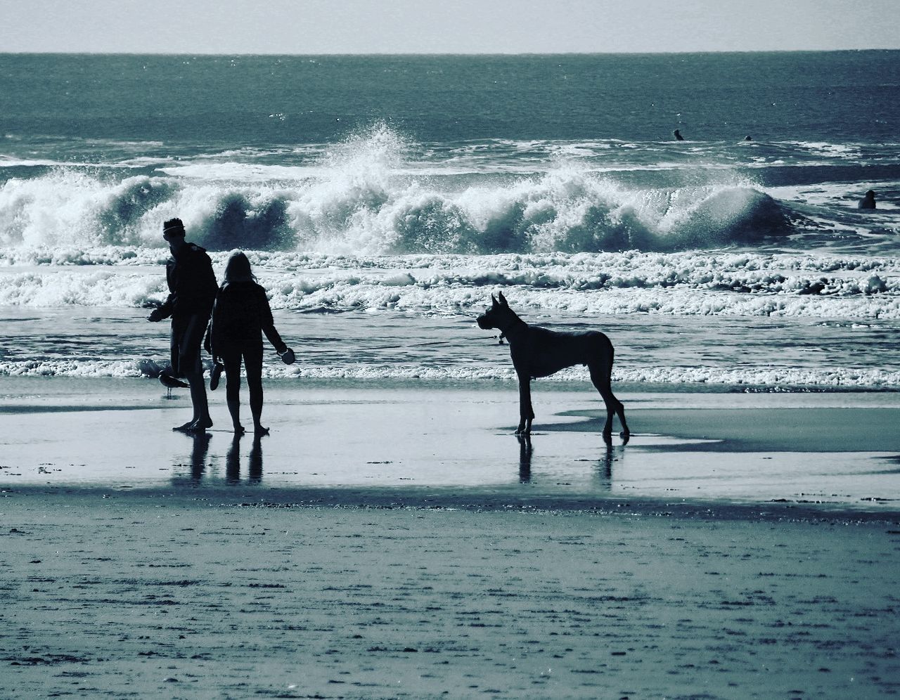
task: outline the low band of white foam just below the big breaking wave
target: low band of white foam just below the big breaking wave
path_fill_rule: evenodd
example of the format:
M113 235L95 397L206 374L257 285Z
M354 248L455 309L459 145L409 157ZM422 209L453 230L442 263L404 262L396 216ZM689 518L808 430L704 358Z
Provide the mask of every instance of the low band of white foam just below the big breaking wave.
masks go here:
M221 274L227 253L213 253ZM329 256L250 251L276 309L479 307L495 289L532 309L809 319L900 318L896 258L754 253ZM0 305L140 306L166 293L159 248L14 249Z

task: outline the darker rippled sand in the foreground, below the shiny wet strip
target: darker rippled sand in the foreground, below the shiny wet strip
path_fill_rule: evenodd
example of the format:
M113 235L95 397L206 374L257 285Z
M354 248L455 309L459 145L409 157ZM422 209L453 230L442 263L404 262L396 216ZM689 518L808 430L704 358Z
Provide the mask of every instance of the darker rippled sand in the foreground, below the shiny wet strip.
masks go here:
M896 523L5 494L0 696L877 697Z

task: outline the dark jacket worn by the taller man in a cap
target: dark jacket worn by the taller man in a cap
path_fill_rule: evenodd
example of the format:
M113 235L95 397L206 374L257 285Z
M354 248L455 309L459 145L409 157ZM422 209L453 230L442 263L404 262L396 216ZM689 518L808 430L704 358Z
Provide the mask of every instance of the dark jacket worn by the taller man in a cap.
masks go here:
M160 319L193 315L209 318L219 285L206 250L193 243L184 244L178 256L166 263L166 283L169 295L157 312Z

